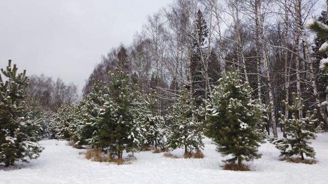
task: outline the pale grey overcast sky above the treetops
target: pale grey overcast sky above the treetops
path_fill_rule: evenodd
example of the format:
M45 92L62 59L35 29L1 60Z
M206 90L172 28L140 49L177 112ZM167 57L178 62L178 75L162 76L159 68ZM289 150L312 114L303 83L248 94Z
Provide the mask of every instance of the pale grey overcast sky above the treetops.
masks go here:
M173 0L0 0L0 68L83 88L101 55L129 45L147 15Z

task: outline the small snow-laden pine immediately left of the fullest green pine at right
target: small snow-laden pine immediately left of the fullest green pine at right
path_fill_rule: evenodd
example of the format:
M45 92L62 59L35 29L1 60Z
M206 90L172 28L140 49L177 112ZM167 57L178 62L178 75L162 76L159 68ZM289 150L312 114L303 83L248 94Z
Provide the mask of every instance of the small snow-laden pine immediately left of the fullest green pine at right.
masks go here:
M170 125L167 130L167 145L174 149L185 149L185 155L203 148L202 130L197 120L195 99L185 87L180 91L180 98L168 109L166 116Z

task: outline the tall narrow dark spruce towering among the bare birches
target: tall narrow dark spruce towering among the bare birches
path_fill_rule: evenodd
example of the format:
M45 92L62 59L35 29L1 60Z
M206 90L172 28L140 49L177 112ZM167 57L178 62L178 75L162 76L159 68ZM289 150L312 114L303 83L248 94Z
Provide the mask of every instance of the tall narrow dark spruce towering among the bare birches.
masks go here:
M190 53L190 75L192 97L195 98L196 107L203 104L206 98L206 71L204 60L206 60L206 39L209 31L203 14L200 10L197 12L194 22L194 30L191 34L192 46Z

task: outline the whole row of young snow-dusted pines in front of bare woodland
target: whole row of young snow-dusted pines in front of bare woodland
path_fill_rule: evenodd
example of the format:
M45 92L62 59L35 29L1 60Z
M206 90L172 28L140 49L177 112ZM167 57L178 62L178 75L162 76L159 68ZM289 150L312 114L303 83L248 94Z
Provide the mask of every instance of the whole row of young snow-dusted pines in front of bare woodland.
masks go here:
M25 71L16 71L9 61L6 70L2 70L7 81L0 81L0 163L6 167L37 158L43 149L37 141L48 131L55 139L91 145L105 152L110 160L121 160L124 150L145 147L154 147L155 152L183 148L186 157L202 157L199 154L204 146L203 135L213 139L222 155L231 155L224 161L226 169L249 170L243 161L261 156L257 148L266 138L262 131L266 107L252 99L252 88L234 68L223 74L201 105L196 106L190 91L181 87L166 116L158 110L159 97L154 90L140 93L130 77L119 70L109 75L108 85L94 81L92 92L79 103L64 103L56 112L46 113L37 100L25 96ZM295 96L292 104L285 106L293 112L292 118L280 114L280 124L290 138L273 143L282 157L314 158L307 140L315 139L314 132L321 125L315 119L315 111L299 117L302 99Z

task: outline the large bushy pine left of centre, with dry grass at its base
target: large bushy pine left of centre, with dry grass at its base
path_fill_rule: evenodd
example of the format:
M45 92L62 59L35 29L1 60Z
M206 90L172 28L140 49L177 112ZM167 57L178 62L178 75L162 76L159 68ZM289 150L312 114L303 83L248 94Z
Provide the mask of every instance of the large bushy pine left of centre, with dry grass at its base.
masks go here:
M90 101L83 102L85 107L81 108L89 114L84 114L87 122L81 134L85 138L91 136L92 145L120 159L124 150L133 149L139 142L133 124L140 95L130 77L118 69L110 74L109 81L108 86L96 85L89 95Z

